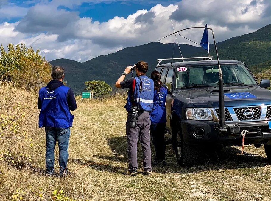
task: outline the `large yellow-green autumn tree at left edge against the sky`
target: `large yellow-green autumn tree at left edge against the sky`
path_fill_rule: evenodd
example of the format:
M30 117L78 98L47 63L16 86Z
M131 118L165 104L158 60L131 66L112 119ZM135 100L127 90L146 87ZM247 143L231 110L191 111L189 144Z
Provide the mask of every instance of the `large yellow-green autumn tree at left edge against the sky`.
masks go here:
M32 47L9 44L8 51L0 47L0 77L13 81L27 90L38 90L51 79L51 65Z

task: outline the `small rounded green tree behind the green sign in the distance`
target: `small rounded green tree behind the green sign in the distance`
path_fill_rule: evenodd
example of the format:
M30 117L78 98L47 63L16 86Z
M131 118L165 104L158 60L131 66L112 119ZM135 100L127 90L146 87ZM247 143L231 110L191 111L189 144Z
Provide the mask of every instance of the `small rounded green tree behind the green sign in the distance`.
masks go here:
M85 82L85 85L87 86L85 90L91 91L91 93L93 93L93 96L96 97L101 97L112 91L112 88L103 80L87 81Z

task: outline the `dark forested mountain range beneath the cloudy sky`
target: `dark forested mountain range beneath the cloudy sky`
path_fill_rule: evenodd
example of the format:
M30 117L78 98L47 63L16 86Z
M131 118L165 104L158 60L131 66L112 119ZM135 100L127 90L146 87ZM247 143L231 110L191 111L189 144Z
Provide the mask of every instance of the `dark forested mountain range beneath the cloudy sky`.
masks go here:
M217 43L220 60L233 58L246 63L253 71L260 73L261 63L264 68L270 64L271 55L271 25L267 25L253 33L230 38ZM210 39L211 40L211 39ZM174 43L163 44L151 42L135 47L127 47L118 52L101 55L85 62L78 62L70 59L56 59L50 61L53 66L62 66L65 69L65 80L75 93L84 90L85 81L104 80L113 85L124 71L126 66L133 65L139 60L147 61L149 71L155 69L158 58L180 58L180 51ZM183 57L206 56L207 51L202 47L195 47L187 44L180 44ZM214 51L214 44L210 45ZM215 52L210 55L216 59ZM256 69L256 70L255 70Z

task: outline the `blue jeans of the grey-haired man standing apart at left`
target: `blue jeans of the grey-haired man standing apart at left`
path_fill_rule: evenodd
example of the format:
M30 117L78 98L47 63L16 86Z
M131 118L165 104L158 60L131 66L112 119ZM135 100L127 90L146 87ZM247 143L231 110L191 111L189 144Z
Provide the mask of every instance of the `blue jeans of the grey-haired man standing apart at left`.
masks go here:
M56 127L45 127L46 133L46 171L49 174L54 173L54 148L55 144L58 143L59 157L58 163L60 166L60 175L68 171L68 146L69 138L71 134L70 128L56 128Z

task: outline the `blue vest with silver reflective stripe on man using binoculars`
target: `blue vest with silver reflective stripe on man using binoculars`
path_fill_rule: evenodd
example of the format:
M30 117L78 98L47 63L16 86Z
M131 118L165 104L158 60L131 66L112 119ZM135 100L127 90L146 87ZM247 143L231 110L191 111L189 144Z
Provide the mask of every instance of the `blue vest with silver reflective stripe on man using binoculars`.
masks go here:
M142 80L142 91L139 91L140 79ZM126 110L129 112L133 108L133 104L131 101L131 93L133 93L133 97L135 100L135 106L140 108L141 111L152 111L153 105L153 94L154 94L154 85L153 80L148 78L146 75L141 75L139 77L135 77L135 81L133 83L134 91L128 91L127 103L124 106Z

